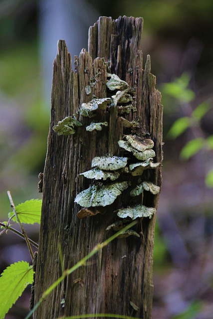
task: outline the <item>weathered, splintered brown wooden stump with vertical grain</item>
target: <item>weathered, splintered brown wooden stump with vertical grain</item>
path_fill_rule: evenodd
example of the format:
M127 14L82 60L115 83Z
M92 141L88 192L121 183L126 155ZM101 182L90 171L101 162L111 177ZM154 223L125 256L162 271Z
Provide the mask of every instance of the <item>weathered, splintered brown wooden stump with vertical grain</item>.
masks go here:
M156 78L150 73L149 56L143 69L142 26L142 18L124 16L113 20L100 17L89 29L89 52L82 49L80 56L74 57L74 70L65 42L58 42L53 64L51 119L43 177L35 303L61 276L60 251L63 268L72 267L97 243L114 233L113 230L106 231L108 225L119 219L113 211L126 207L131 200L129 190L124 190L112 205L106 206L105 214L84 219L77 217L81 207L74 203L76 195L92 183L79 174L91 169L94 157L109 154L127 156L119 148L118 141L124 134L131 134L131 128L123 127L121 116L137 121L135 133L154 141L154 162L162 163L161 93L155 89ZM94 96L107 97L109 70L134 89L137 112L119 115L117 108L111 107L98 110L94 119L79 115L77 110L82 103L91 101ZM76 128L73 135L58 136L52 127L73 114L83 125ZM85 127L93 120L107 122L108 127L103 127L100 132L86 131ZM121 176L119 180L131 181L133 189L138 177L128 176ZM161 186L161 165L147 169L143 180ZM145 193L143 204L157 208L159 195ZM135 198L137 203L139 199ZM66 278L38 307L33 318L110 313L150 319L154 227L155 214L134 227L140 238L131 236L111 242L86 266ZM132 305L136 305L138 310Z

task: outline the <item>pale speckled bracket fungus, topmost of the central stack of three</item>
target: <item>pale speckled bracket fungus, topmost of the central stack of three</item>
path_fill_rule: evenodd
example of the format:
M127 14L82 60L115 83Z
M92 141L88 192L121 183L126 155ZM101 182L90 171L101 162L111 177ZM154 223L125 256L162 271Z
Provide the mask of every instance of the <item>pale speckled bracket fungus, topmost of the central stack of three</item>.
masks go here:
M92 167L97 166L103 170L117 170L119 168L125 167L127 164L128 158L120 158L118 156L113 157L95 157L92 160Z

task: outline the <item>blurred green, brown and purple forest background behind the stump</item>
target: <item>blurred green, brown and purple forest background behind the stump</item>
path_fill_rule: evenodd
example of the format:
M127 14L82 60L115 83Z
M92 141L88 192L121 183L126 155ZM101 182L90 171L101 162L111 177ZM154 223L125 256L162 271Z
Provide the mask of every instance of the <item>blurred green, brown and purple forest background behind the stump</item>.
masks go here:
M211 319L213 188L206 176L213 169L213 0L0 1L0 220L10 211L7 190L15 204L41 198L37 175L46 154L57 40L64 38L71 55L79 55L99 15L143 16L144 60L151 55L163 95L153 319ZM196 118L200 105L206 111ZM171 131L183 117L188 120ZM194 139L205 147L196 142L183 156ZM37 241L38 227L27 231ZM0 271L29 260L23 247L11 234L0 237ZM27 307L26 292L6 318L24 318Z

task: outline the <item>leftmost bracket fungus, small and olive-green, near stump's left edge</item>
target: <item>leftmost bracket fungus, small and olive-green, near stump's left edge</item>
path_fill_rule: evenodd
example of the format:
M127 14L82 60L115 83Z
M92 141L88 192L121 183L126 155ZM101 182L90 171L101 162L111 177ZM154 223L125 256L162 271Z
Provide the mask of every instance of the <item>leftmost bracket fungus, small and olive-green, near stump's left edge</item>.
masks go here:
M78 126L82 126L82 124L72 116L67 116L65 119L59 121L57 125L53 126L52 129L58 135L71 135L75 133L74 128Z

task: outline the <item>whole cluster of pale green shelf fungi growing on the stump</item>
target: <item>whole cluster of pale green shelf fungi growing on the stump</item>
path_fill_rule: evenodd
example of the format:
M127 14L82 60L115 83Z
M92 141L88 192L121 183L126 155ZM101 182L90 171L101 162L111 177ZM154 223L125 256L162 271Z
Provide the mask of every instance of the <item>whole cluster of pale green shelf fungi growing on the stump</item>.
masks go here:
M116 74L107 74L110 78L106 85L110 92L115 91L111 97L102 99L92 99L88 103L82 103L81 108L77 111L78 114L84 117L95 117L96 110L106 110L107 107L116 107L118 114L130 113L130 111L137 111L133 103L134 90L131 89L127 82L121 80ZM123 126L134 130L138 127L136 121L128 121L121 117ZM58 125L53 127L53 130L58 135L70 135L75 133L75 128L82 126L74 116L66 117L58 122ZM102 127L107 127L107 122L95 123L91 122L86 130L91 132L93 130L101 131ZM138 162L129 162L128 157L118 156L103 156L95 157L92 160L92 169L82 172L86 178L94 180L103 180L104 183L95 182L89 188L82 190L75 197L75 202L82 206L81 210L77 213L79 218L93 216L98 213L105 213L106 206L111 205L118 196L122 194L129 186L128 181L115 181L123 173L130 173L132 176L140 176L145 169L156 168L160 163L154 163L155 151L153 150L154 142L151 139L144 139L137 135L125 135L123 140L118 141L118 145L124 152L131 153ZM131 157L132 158L132 157ZM128 178L127 178L128 179ZM107 182L110 180L110 182ZM158 194L160 187L150 181L140 182L134 189L130 191L130 196L139 196L143 191L150 191L152 194ZM113 229L115 231L124 227L129 218L136 219L138 217L151 218L156 209L153 207L146 207L142 204L120 208L117 211L117 216L121 218L120 221L109 225L106 230ZM140 237L134 230L128 230L120 234L120 238L134 235Z

